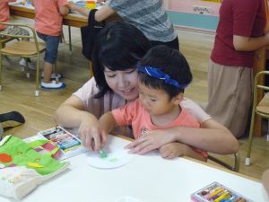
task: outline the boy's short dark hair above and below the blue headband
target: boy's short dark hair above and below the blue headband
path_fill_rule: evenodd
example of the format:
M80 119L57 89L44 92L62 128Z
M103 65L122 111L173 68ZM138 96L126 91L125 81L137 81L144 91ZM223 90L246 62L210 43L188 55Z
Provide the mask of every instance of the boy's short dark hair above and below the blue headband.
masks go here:
M193 79L187 59L178 50L165 45L151 48L140 60L138 66L157 68L179 84L191 83ZM164 80L154 78L143 72L138 72L138 75L139 82L147 87L168 92L170 99L178 95L178 93L184 92L184 88L178 88L173 84L165 83Z

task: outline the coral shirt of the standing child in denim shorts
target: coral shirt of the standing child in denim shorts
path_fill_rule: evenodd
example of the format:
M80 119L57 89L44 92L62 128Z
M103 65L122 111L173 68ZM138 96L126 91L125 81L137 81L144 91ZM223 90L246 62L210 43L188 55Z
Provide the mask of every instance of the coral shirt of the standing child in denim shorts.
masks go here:
M33 0L33 4L36 31L48 36L60 36L63 16L59 8L67 5L67 0Z

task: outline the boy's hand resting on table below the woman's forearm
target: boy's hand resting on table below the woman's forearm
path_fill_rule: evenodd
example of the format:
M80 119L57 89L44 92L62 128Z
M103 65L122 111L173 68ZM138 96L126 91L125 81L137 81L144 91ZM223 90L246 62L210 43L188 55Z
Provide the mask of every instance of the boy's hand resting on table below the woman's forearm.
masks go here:
M185 154L186 145L182 143L169 143L162 145L159 149L162 158L173 159Z

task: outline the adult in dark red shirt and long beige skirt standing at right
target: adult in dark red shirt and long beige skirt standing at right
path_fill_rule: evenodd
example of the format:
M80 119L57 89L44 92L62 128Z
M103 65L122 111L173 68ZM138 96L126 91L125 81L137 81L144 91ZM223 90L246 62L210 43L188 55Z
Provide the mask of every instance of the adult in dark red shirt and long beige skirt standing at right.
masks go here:
M255 51L269 43L266 0L223 0L208 67L205 111L236 136L246 132Z

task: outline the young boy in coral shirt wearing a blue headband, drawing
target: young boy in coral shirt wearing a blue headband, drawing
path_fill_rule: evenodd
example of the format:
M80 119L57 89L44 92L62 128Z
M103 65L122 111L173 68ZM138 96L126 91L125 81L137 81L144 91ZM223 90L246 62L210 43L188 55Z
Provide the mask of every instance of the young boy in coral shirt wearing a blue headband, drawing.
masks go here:
M138 78L139 99L101 116L101 133L132 125L136 139L146 135L147 130L200 127L200 123L180 107L192 74L186 58L178 50L165 45L151 48L138 64ZM207 159L206 152L178 142L163 145L159 151L165 158L186 155L201 161Z

